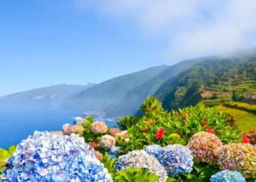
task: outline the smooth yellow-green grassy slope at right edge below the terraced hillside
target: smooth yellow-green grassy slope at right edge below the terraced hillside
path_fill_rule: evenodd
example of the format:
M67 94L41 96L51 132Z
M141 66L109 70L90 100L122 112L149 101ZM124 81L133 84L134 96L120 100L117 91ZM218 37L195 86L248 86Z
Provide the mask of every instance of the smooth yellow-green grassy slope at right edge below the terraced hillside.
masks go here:
M217 106L218 110L224 111L233 117L233 120L238 127L238 130L247 132L252 129L256 129L256 115L247 111L241 111L236 108L229 108L227 106Z

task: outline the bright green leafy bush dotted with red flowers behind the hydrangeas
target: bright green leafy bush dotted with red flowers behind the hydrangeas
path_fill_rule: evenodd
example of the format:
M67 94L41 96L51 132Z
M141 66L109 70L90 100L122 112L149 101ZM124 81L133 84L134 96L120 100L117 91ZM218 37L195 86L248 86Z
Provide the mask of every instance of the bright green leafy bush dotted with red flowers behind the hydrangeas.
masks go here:
M148 102L148 100L147 100ZM158 103L157 103L158 104ZM153 104L149 106L152 108ZM153 107L157 108L158 107ZM147 110L146 110L147 111ZM230 116L216 108L187 107L178 111L151 111L139 117L133 117L134 124L128 127L129 141L126 151L145 149L151 144L167 146L169 144L186 145L189 138L209 127L216 132L222 143L241 141L239 131L229 124ZM203 123L205 120L206 123ZM157 140L157 130L164 129L163 137Z

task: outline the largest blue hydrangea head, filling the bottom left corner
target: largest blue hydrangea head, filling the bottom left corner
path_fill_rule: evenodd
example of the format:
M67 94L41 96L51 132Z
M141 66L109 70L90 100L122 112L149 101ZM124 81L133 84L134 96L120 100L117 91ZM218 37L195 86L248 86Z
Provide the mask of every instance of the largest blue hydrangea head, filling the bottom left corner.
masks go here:
M18 144L2 170L3 181L112 181L94 150L78 135L34 132Z

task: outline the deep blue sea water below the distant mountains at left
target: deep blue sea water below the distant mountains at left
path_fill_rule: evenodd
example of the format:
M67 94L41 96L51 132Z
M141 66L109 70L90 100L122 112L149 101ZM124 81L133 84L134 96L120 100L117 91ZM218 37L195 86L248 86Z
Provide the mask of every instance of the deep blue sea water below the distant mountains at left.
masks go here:
M63 124L72 124L73 117L80 116L58 109L0 111L0 148L17 145L34 131L61 131ZM83 116L82 116L83 117ZM116 122L106 121L108 127Z

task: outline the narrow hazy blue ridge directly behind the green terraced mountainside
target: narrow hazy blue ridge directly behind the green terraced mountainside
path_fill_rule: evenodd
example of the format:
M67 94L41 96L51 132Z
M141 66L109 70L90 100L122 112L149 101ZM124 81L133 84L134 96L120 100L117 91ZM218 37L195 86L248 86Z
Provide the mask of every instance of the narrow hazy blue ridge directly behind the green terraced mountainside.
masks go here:
M161 73L154 76L154 78L149 79L147 82L141 84L138 87L127 92L127 95L122 98L115 108L106 108L105 111L110 116L121 116L121 115L131 115L140 107L141 103L147 98L148 95L154 95L157 89L168 79L173 78L181 73L181 71L190 68L195 63L200 62L200 58L183 60L176 63L173 66L169 66Z

